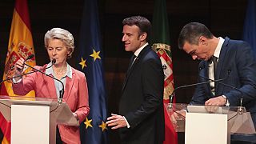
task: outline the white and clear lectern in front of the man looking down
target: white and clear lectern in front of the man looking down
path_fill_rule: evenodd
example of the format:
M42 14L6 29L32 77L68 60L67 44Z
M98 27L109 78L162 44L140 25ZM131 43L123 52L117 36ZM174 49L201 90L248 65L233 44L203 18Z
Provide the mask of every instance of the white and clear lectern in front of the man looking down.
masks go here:
M256 134L250 112L242 106L169 103L165 104L165 108L175 130L185 132L186 144L229 144L230 135L242 137Z

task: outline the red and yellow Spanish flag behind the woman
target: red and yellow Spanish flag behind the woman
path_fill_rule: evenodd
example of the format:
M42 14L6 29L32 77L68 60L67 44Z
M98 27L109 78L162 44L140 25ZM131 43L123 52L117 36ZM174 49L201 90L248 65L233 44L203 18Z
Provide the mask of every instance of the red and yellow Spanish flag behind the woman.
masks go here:
M26 0L16 0L14 6L13 20L10 28L10 38L6 55L6 66L3 74L1 95L15 96L10 80L14 76L14 64L19 58L26 59L30 54L34 54L34 46L30 28L30 17ZM35 58L26 61L30 66L35 66ZM30 71L24 68L24 73ZM34 97L34 91L30 91L26 96ZM2 144L10 143L10 122L6 122L0 114L1 130L3 134Z

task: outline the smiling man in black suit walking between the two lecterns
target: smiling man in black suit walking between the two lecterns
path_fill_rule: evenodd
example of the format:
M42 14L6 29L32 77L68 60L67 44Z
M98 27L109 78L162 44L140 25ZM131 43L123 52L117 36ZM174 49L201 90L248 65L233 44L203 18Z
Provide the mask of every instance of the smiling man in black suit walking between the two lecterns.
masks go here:
M164 75L160 58L147 42L151 25L141 16L126 18L122 24L122 42L134 56L123 84L119 114L111 114L106 123L120 130L122 143L161 144Z

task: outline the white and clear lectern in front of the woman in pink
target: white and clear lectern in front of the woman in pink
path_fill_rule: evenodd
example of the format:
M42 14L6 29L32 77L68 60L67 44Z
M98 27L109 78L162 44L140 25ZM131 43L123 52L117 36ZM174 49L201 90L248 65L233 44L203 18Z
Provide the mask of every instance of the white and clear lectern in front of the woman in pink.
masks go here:
M58 99L0 96L0 111L11 122L12 144L56 143L56 125L79 126Z

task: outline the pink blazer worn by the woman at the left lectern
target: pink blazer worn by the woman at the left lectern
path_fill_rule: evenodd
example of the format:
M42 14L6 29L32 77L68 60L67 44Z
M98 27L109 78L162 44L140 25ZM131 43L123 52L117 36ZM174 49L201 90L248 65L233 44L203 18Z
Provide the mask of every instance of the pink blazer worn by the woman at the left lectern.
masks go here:
M45 66L35 66L43 70ZM44 70L43 70L44 71ZM22 82L13 84L14 94L25 95L30 90L35 91L36 97L57 98L53 78L39 72L28 74ZM63 101L70 106L70 110L78 114L81 123L89 114L88 89L85 74L72 68L72 78L66 77ZM80 144L79 126L58 125L62 142Z

